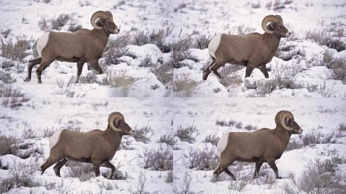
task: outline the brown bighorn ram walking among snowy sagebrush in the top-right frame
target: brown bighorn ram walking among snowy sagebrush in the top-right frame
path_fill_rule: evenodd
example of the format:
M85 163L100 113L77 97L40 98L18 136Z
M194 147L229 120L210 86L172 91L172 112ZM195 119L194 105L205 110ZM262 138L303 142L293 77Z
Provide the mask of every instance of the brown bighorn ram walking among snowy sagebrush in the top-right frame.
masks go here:
M268 22L270 23L267 25ZM258 68L268 78L266 64L278 50L280 39L289 37L291 32L283 25L279 15L266 16L262 21L262 28L265 30L264 34L221 34L213 37L208 44L211 62L203 70L202 79L206 80L210 72L221 79L218 69L226 63L246 66L245 77L249 77L253 69Z

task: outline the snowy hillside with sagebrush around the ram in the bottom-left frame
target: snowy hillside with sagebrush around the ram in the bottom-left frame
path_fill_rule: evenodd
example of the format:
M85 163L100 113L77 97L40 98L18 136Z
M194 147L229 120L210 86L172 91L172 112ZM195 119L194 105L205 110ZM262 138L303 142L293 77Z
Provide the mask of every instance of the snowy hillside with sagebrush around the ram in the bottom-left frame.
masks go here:
M172 127L172 112L165 99L117 98L107 102L106 99L46 98L20 105L12 101L5 105L5 102L6 99L2 101L0 111L1 192L13 187L11 184L16 175L20 176L20 180L16 180L20 182L17 187L27 187L12 189L9 193L113 193L115 190L117 193L136 193L139 179L144 181L143 189L148 192L171 192L168 180L169 170L172 170L172 149L160 140ZM54 174L53 166L39 174L39 166L49 156L49 137L54 131L105 130L108 115L114 111L124 115L135 135L122 137L120 149L111 161L117 168L113 180L95 177L90 165L73 162L61 169L61 178ZM160 158L156 156L158 154L162 154ZM160 166L162 163L164 167ZM17 171L13 171L14 167ZM101 174L106 176L109 172L108 168L101 167Z

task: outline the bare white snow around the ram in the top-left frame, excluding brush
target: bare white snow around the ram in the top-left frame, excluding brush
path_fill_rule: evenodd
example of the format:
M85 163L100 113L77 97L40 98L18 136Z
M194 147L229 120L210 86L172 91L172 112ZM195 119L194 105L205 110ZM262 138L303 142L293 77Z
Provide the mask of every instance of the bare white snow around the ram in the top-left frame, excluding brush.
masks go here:
M130 31L138 30L152 32L152 30L164 29L172 26L171 19L167 17L167 8L165 1L2 1L1 2L1 31L6 33L10 30L5 40L16 36L25 36L26 39L32 39L35 42L45 31L52 28L51 19L58 18L61 14L67 15L70 19L66 24L59 27L59 31L68 31L71 26L80 25L81 28L92 29L90 24L91 15L99 10L109 10L113 13L113 18L117 26L121 25L119 35L111 35L110 38L117 38ZM151 11L149 11L151 10ZM65 16L64 15L64 16ZM39 23L47 21L47 29L40 27ZM2 38L5 34L2 33ZM126 38L126 37L125 37ZM129 37L127 37L129 38ZM31 46L31 44L30 44ZM127 46L127 45L126 45ZM23 88L28 96L76 96L76 97L94 97L94 96L156 96L164 97L171 95L171 78L168 83L160 82L152 73L150 67L139 67L139 64L145 59L146 55L151 56L151 62L157 62L157 58L162 57L164 61L169 58L169 55L164 55L152 44L143 46L128 45L127 56L123 57L123 63L119 65L102 65L104 59L100 60L100 65L105 74L96 75L94 83L78 83L67 85L71 76L76 76L77 68L75 63L54 62L42 73L42 83L37 84L35 78L35 68L33 69L33 77L30 82L26 83L23 80L27 73L27 62L34 59L32 49L26 52L29 53L25 59L20 62L20 66L25 67L23 72L15 72L12 68L8 70L12 77L16 80L13 83L16 86ZM134 59L135 58L135 59ZM0 64L4 61L13 62L6 58L0 59ZM126 62L126 63L125 63ZM19 62L18 62L19 63ZM84 65L82 75L93 73L94 70L88 70ZM123 75L124 78L129 78L132 81L128 83L120 83L120 85L100 84L107 77L109 71L115 72L113 75ZM171 70L172 71L172 70ZM95 74L95 73L94 73ZM109 76L108 76L109 78ZM96 82L96 83L95 83ZM60 84L59 84L60 83ZM60 86L59 86L60 85ZM72 94L73 93L73 94Z

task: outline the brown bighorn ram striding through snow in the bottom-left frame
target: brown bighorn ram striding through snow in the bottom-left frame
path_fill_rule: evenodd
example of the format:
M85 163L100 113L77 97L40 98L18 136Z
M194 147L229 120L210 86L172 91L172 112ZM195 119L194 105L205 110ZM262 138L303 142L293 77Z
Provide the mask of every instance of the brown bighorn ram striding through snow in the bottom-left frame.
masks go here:
M132 135L134 131L127 125L119 112L113 112L108 117L108 126L105 131L95 129L89 132L60 130L53 134L49 141L50 155L41 165L41 172L54 166L54 172L60 176L60 169L68 160L83 163L92 163L95 175L100 175L100 165L110 168L111 179L115 167L109 162L119 148L122 135ZM42 174L41 173L41 174Z

